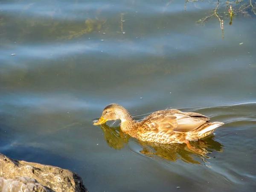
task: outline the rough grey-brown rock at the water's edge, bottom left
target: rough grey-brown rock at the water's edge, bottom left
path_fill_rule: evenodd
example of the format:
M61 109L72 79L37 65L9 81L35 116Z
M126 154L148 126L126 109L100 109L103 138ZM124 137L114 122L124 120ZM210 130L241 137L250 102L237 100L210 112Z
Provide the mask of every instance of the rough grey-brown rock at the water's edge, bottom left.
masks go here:
M0 154L1 192L87 192L79 175L67 169L17 161ZM22 188L21 188L22 187ZM16 190L18 189L18 190Z

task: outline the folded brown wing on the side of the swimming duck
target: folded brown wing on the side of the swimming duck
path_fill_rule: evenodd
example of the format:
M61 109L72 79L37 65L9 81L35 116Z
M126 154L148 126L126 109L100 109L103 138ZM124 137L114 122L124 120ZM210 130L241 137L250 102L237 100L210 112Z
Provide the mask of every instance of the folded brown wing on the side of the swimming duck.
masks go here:
M183 113L177 109L157 111L140 122L143 131L193 131L209 118L200 113Z

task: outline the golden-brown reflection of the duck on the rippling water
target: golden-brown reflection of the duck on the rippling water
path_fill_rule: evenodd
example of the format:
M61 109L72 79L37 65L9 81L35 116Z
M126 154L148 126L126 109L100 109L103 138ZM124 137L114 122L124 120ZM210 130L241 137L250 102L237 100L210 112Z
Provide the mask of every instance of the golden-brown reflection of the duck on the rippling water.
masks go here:
M120 150L128 144L131 136L125 134L120 127L109 127L106 124L101 125L106 142L111 148ZM198 141L191 141L190 144L196 150L191 150L185 143L160 144L138 141L141 145L141 154L152 158L163 158L170 161L183 160L186 163L202 164L207 163L212 151L223 152L223 145L214 140L214 135L210 135ZM201 157L202 161L198 161Z

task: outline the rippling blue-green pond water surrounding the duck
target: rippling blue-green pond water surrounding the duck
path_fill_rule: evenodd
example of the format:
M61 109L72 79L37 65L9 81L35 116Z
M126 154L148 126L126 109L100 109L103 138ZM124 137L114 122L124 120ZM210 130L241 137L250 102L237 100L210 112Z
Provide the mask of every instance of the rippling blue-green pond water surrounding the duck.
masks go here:
M198 25L216 2L0 0L0 152L77 172L90 192L255 191L256 15L232 4L230 25L221 4L223 33L215 15ZM146 145L93 125L113 102L225 125L193 142L204 154Z

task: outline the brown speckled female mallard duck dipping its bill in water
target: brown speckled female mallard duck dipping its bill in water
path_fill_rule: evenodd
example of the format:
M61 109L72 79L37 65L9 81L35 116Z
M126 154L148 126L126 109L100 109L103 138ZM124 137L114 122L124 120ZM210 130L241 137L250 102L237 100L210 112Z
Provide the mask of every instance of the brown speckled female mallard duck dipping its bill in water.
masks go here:
M223 122L209 122L209 117L200 113L183 113L177 109L157 111L141 122L135 122L130 113L118 104L110 104L93 125L108 120L121 120L121 129L138 140L154 143L186 143L212 134Z

